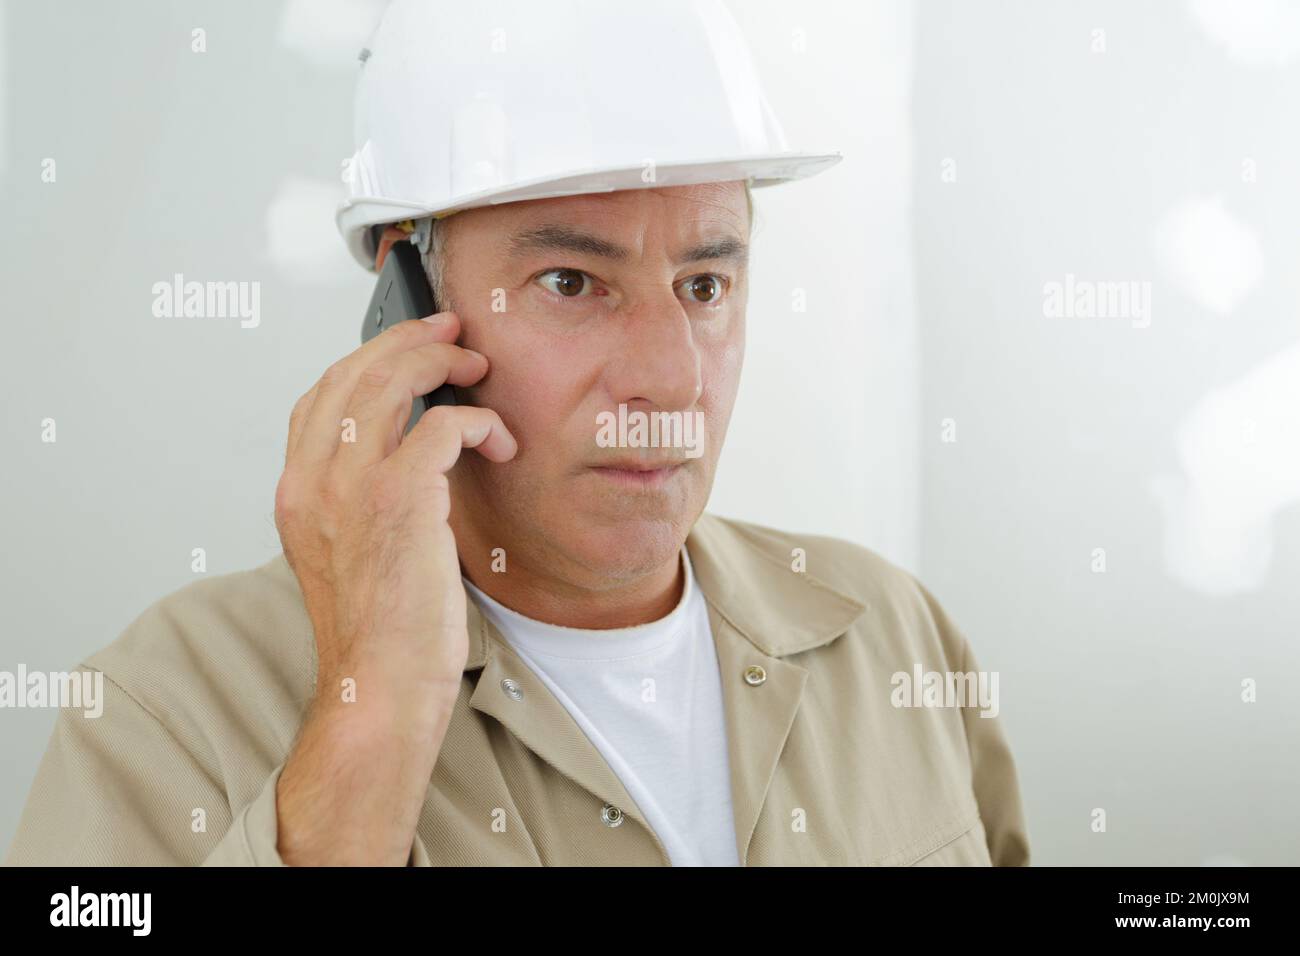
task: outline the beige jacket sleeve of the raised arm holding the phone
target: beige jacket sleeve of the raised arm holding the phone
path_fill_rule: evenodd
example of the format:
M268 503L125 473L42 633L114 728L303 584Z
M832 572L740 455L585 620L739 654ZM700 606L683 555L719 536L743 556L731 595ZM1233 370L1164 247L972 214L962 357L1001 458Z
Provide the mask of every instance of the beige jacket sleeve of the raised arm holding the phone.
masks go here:
M107 674L103 693L98 717L60 709L6 866L285 865L276 818L283 763L231 808L222 782ZM408 865L430 865L419 838Z

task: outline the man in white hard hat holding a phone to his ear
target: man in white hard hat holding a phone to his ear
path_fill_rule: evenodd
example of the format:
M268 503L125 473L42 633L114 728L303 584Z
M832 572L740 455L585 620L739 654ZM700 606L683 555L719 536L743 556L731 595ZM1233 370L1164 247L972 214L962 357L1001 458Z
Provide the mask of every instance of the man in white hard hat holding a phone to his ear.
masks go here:
M607 55L588 34L629 34L601 4L558 27L534 7L497 12L503 62L463 53L495 21L387 13L341 225L373 268L415 235L443 311L292 410L282 557L164 598L86 662L104 717L60 714L10 862L1027 861L996 702L897 693L898 675L976 672L933 598L859 546L703 514L744 355L749 183L826 157L728 126L764 105L734 25L670 3L640 34L707 36L729 72L679 82L722 127L697 139L731 139L660 152L646 181L649 140L616 129L627 98L593 90L585 129L614 152L566 133L538 159L536 111L482 90L517 105L554 65ZM636 135L666 135L681 101L655 90L630 112ZM486 138L484 117L502 121ZM564 150L597 161L575 176ZM403 185L429 176L413 156L450 169ZM403 436L445 384L458 403Z

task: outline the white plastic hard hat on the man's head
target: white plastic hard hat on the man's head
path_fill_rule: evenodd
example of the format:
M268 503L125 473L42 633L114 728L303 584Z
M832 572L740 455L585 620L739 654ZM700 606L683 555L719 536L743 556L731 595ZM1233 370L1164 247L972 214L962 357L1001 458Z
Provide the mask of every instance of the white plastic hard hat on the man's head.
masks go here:
M523 199L835 165L797 152L722 0L393 0L367 49L335 216L370 226Z

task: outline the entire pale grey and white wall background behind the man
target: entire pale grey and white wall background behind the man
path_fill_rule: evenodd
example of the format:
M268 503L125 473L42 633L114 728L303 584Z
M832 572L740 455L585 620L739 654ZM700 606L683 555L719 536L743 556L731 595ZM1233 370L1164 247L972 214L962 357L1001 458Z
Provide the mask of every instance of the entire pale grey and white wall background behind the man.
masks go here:
M1036 862L1300 862L1296 5L731 5L846 159L755 194L711 510L919 574L1000 672ZM0 669L278 550L289 408L369 295L332 212L376 9L0 7ZM178 272L260 326L155 319ZM1067 273L1150 282L1149 328L1046 317ZM0 710L0 845L53 718Z

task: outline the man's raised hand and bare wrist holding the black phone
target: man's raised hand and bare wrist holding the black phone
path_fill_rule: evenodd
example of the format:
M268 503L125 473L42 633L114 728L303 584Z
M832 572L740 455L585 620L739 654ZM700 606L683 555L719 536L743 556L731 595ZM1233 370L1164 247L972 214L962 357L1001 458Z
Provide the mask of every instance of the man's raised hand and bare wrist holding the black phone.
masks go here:
M429 408L403 440L416 397L488 373L459 333L454 312L394 325L290 416L276 527L318 667L277 788L289 864L403 865L411 851L468 654L446 472L465 447L493 462L517 450L472 406Z

